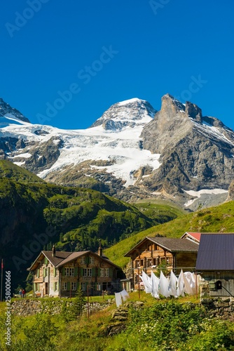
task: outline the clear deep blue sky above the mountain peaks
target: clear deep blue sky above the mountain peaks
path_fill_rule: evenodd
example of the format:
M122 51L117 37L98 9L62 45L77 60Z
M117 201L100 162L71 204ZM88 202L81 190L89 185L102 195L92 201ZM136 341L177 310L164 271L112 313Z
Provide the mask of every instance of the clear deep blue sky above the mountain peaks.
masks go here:
M234 129L233 0L8 0L0 97L32 123L88 128L170 93Z

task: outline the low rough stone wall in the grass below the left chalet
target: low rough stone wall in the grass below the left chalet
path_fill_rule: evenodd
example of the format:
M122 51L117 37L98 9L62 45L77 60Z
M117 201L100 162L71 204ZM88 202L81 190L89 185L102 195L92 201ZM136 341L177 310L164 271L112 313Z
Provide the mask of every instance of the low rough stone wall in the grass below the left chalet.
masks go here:
M20 300L15 300L11 303L11 313L18 316L32 316L36 313L50 312L51 314L59 314L62 311L62 305L66 303L67 308L71 307L73 304L69 299L46 299L39 298L37 300L21 298ZM93 312L104 310L104 308L112 305L113 300L109 299L104 303L89 303L90 314ZM88 304L85 303L84 313L88 310Z

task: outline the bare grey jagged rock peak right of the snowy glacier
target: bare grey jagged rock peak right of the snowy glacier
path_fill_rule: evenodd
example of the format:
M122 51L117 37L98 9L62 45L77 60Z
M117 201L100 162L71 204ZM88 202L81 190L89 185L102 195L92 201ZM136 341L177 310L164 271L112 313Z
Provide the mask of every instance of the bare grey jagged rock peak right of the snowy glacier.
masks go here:
M160 153L161 166L144 185L169 194L227 190L234 178L234 133L200 108L164 95L162 108L142 131L143 148Z

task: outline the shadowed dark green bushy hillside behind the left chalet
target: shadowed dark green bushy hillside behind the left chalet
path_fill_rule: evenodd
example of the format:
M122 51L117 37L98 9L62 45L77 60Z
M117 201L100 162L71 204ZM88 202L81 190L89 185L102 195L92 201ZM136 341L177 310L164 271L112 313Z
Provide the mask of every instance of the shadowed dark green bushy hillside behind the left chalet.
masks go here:
M150 208L147 216L137 206L101 192L46 183L0 161L0 259L15 274L16 284L25 279L39 252L53 244L57 250L97 251L99 239L102 247L112 246L180 214L163 208L160 218L160 209L154 204Z

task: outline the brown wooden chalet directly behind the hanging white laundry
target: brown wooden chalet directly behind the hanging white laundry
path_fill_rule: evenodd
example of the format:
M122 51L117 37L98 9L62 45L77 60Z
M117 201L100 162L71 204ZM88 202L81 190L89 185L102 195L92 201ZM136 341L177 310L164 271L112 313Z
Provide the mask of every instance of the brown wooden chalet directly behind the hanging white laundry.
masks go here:
M125 257L132 260L133 289L138 289L142 270L148 275L163 265L179 274L181 269L195 271L198 244L187 239L145 237Z

